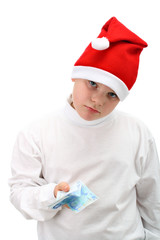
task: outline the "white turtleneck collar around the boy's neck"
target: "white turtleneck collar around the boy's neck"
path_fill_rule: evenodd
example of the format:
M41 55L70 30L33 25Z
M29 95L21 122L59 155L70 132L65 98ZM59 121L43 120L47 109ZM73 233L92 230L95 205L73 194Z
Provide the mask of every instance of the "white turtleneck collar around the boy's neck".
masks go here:
M79 126L83 126L83 127L101 126L103 124L111 122L116 115L116 111L114 110L103 118L87 121L80 117L77 111L71 106L71 103L72 103L72 95L70 95L70 97L67 99L67 103L64 108L64 114L70 121L72 121L74 124Z

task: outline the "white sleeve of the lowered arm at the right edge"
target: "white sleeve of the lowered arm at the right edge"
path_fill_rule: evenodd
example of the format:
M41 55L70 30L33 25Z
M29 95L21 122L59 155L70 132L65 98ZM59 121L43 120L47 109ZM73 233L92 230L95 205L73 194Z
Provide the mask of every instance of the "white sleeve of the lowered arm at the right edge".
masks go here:
M145 155L145 157L144 157ZM154 140L143 154L141 180L137 184L137 204L145 229L146 240L160 239L160 163Z

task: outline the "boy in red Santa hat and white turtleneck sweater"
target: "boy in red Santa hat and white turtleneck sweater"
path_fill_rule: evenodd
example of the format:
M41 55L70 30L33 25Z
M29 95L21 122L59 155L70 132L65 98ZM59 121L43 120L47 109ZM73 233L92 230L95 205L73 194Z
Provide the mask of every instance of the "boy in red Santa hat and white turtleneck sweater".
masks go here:
M19 133L11 201L38 221L39 240L160 239L160 166L139 120L115 110L136 81L147 44L115 17L75 63L58 113ZM82 180L99 199L78 214L48 206Z

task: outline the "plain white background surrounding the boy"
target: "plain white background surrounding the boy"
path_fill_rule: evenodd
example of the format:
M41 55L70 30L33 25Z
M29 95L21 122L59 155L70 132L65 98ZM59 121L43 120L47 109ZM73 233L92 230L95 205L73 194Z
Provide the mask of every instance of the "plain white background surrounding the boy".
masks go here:
M160 153L159 0L0 1L0 213L4 239L37 239L36 222L25 220L8 200L16 135L35 118L63 106L72 91L74 62L112 16L149 45L141 55L137 82L118 108L148 125Z

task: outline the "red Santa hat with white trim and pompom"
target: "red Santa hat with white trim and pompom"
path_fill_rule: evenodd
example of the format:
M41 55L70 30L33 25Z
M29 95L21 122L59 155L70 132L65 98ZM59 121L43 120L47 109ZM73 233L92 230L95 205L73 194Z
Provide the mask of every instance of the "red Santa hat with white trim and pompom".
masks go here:
M102 83L123 101L136 81L144 47L146 42L112 17L76 61L72 78Z

